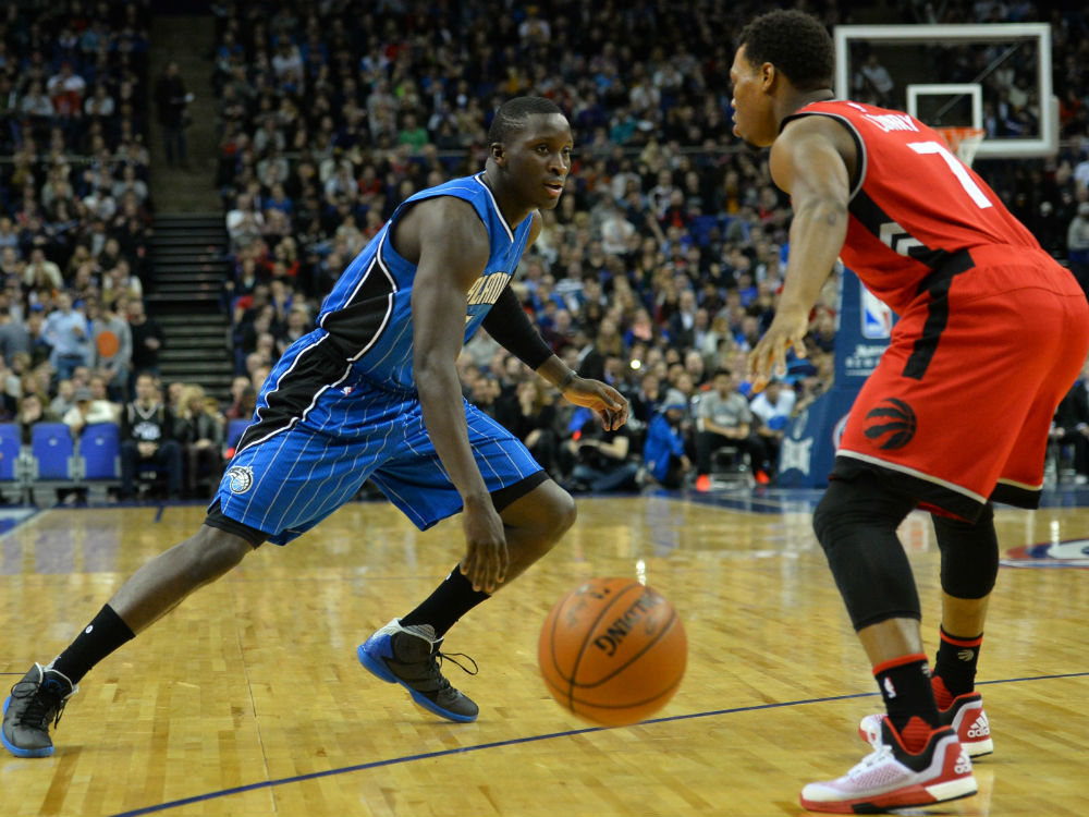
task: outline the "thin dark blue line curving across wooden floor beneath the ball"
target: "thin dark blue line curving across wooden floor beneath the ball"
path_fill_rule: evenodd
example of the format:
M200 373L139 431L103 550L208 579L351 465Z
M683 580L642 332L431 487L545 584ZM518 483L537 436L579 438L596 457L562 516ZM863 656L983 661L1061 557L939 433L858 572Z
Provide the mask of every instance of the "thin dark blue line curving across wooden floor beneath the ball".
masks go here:
M1000 679L996 681L982 681L982 684L1012 684L1012 683L1023 683L1026 681L1055 681L1061 679L1072 679L1072 678L1089 678L1089 672L1069 672L1057 675L1035 675L1030 678L1008 678ZM782 709L790 706L803 706L805 704L829 704L836 700L849 700L852 698L869 698L877 697L876 692L861 692L854 693L852 695L834 695L824 698L806 698L803 700L786 700L778 704L758 704L756 706L741 706L734 707L733 709L715 709L707 712L692 712L689 715L674 715L669 718L653 718L651 720L645 720L639 723L639 725L650 725L653 723L670 723L673 721L681 720L692 720L694 718L709 718L718 715L736 715L737 712L752 712L759 711L761 709ZM521 743L536 743L538 741L549 741L553 737L568 737L579 734L589 734L590 732L602 732L605 727L587 727L585 729L572 729L563 732L550 732L548 734L528 735L526 737L512 737L505 741L492 741L490 743L480 743L476 746L461 746L458 748L441 749L438 752L426 752L419 755L404 755L402 757L391 757L386 760L371 760L365 764L355 764L354 766L342 766L338 769L326 769L325 771L311 771L306 775L295 775L290 778L280 778L278 780L264 780L257 783L247 783L245 785L236 785L231 789L221 789L220 791L207 792L205 794L194 794L191 797L183 797L181 800L172 800L167 803L159 803L151 806L143 806L142 808L134 808L131 812L119 812L110 817L138 817L144 814L154 814L156 812L164 812L168 808L178 808L180 806L186 806L192 803L200 803L204 801L216 800L219 797L227 797L232 794L241 794L243 792L255 791L258 789L271 789L277 785L285 785L287 783L301 783L306 780L316 780L318 778L332 777L333 775L347 775L355 771L365 771L367 769L380 769L384 766L396 766L399 764L413 763L416 760L430 760L436 757L448 757L450 755L462 755L469 752L480 752L484 749L491 748L502 748L503 746L516 746Z

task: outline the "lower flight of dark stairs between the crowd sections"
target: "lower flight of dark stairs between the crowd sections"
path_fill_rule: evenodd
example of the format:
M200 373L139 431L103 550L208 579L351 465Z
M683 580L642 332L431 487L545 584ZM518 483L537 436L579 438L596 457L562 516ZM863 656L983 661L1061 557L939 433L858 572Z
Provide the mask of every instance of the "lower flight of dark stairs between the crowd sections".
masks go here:
M222 302L227 247L222 214L156 216L144 294L148 316L166 336L159 353L162 381L203 386L224 408L234 371Z

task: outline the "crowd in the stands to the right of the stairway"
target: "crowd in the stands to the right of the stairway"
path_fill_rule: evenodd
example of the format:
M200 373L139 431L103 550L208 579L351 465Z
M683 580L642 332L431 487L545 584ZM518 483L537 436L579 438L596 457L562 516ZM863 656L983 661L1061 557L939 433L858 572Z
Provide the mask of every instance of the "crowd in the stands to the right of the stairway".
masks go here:
M992 5L943 3L932 22L990 20ZM919 22L911 17L928 9L906 3L900 16ZM830 382L835 282L815 312L807 359L752 395L744 358L773 314L790 209L762 158L730 135L734 44L723 33L759 10L702 2L680 15L662 3L565 0L220 7L216 181L235 258L237 373L267 371L306 331L397 204L482 168L499 103L539 94L568 114L577 154L516 291L558 354L631 399L633 420L603 432L484 332L462 357L466 395L576 489L678 486L721 466L773 478L788 418ZM832 4L812 10L829 25L851 22ZM1089 57L1086 17L1052 22L1064 134L1085 137L1089 85L1067 69ZM1056 256L1087 200L1086 147L1007 162L1015 168L995 184Z

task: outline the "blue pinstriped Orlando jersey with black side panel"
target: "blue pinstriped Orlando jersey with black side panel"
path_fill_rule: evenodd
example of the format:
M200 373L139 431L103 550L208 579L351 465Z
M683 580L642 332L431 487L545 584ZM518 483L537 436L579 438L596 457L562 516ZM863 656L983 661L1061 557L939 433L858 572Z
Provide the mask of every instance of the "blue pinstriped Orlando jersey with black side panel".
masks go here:
M326 297L318 316L318 332L352 361L368 379L413 389L412 288L416 265L391 245L392 227L405 208L437 196L469 202L488 230L491 254L480 278L468 292L465 338L473 337L499 294L517 269L526 248L533 216L512 231L488 186L484 173L454 179L429 187L401 204L390 220L356 256Z

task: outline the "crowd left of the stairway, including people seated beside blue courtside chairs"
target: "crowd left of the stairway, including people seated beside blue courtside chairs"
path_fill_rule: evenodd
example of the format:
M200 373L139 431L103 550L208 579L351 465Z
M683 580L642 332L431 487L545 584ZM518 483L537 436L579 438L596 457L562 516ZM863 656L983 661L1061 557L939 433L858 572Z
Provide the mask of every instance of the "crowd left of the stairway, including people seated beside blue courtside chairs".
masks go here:
M163 333L142 301L150 13L149 0L4 4L0 420L24 444L42 423L75 438L118 424L120 498L149 467L164 496L204 497L222 467L227 418L199 385L171 385L169 397L161 388Z

